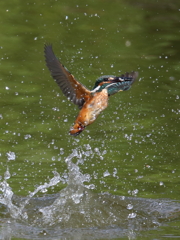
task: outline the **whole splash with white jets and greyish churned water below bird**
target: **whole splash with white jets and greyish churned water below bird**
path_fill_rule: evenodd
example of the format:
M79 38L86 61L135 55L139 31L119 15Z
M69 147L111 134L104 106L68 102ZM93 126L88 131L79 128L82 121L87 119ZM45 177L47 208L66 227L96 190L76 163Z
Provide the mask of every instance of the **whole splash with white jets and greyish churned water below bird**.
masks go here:
M114 196L109 193L97 194L91 184L91 176L83 174L79 165L86 157L98 153L89 145L86 150L75 149L65 159L68 173L54 177L38 186L27 197L15 196L8 184L11 177L7 168L0 182L0 203L10 214L7 224L1 224L0 235L36 239L112 239L126 236L135 239L139 231L158 228L167 221L179 218L180 203L168 200L152 200ZM73 163L76 158L76 163ZM107 172L106 174L107 175ZM49 187L63 183L58 194L36 197L45 193ZM6 212L6 211L5 211ZM11 222L11 226L8 224ZM7 235L8 234L8 235ZM4 236L4 235L3 235ZM39 236L39 237L37 237Z

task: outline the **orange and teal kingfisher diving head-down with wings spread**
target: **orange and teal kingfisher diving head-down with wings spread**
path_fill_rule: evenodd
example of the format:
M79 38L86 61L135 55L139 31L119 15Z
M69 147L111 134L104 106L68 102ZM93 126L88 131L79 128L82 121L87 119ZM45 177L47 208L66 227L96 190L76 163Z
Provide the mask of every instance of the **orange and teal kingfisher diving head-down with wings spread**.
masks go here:
M126 72L119 77L113 75L101 76L96 80L93 89L89 90L77 81L56 58L51 44L45 45L44 54L51 76L59 85L63 94L80 109L74 126L69 132L73 136L79 135L107 108L109 96L128 90L138 77L138 72Z

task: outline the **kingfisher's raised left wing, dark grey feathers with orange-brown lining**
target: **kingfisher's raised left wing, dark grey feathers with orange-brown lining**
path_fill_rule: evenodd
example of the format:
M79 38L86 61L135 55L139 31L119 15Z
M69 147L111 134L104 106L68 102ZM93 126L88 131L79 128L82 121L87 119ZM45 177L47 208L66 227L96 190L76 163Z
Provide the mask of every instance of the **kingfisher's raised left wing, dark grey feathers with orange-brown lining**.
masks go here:
M90 91L76 81L67 68L58 61L52 50L52 45L45 45L44 53L46 65L64 95L81 108L86 99L90 96Z

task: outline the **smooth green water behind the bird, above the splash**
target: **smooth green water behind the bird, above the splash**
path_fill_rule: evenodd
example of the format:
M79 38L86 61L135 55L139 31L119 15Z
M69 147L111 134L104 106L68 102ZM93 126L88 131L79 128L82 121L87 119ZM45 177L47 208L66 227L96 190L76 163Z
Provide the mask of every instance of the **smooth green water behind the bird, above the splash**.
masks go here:
M14 193L26 196L64 173L73 149L91 148L80 167L94 192L179 200L179 1L12 0L0 12L0 175L8 165ZM101 75L139 79L74 138L78 109L51 78L45 43L90 89Z

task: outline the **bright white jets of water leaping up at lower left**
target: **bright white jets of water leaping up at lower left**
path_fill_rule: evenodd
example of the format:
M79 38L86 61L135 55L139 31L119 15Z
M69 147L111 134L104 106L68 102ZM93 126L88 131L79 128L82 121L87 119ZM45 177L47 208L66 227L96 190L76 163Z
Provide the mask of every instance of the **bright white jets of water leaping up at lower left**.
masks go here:
M9 154L8 154L9 156ZM77 164L74 164L72 162L72 158L77 157L78 161ZM94 185L84 185L84 182L89 182L91 177L89 174L82 174L80 172L79 163L82 163L82 154L78 153L77 150L73 150L72 154L68 156L65 159L65 162L67 163L67 168L69 171L68 178L63 178L59 175L57 172L53 172L54 177L50 180L49 183L44 183L43 185L38 186L33 192L31 192L24 200L21 200L21 203L18 203L18 206L13 203L13 196L14 193L9 186L7 180L11 177L11 174L9 172L9 169L7 167L7 170L4 174L4 179L0 182L0 191L2 192L2 195L0 196L0 203L7 206L8 211L12 218L19 219L19 220L28 220L29 216L26 212L26 208L28 207L29 202L33 199L33 197L38 192L46 192L46 190L52 186L57 185L59 182L65 184L67 183L68 187L64 188L60 192L60 197L53 203L52 206L45 209L40 209L39 212L42 212L44 214L43 222L48 223L49 218L47 218L48 215L53 216L54 212L57 215L57 211L54 208L55 206L64 206L63 204L68 203L68 199L71 199L73 203L78 204L81 201L81 198L84 195L84 188L87 189L93 189ZM55 211L53 211L55 209ZM62 218L63 219L63 218ZM67 216L65 217L67 219ZM39 222L39 219L37 218L37 221ZM52 219L50 219L51 225L52 225Z

